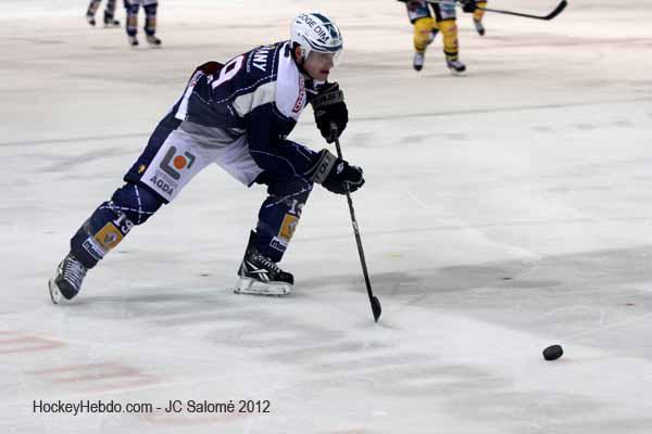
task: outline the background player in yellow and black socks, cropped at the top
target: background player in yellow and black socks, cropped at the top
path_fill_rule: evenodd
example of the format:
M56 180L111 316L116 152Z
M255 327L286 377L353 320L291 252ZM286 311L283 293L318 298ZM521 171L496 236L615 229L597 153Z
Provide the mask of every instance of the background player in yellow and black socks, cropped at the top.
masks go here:
M441 0L430 2L427 0L399 0L405 3L410 22L414 25L414 60L415 71L422 71L426 55L426 48L439 31L443 38L443 53L449 69L459 75L466 71L459 56L457 25L455 0ZM475 0L464 0L464 11L475 5ZM476 9L473 8L475 11Z

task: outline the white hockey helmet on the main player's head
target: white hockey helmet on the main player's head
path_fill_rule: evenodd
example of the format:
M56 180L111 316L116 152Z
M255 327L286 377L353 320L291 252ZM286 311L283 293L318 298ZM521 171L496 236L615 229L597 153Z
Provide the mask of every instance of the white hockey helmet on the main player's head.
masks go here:
M342 53L342 34L337 24L328 16L310 12L302 13L292 21L290 42L301 47L302 58L308 59L311 51L334 53L333 63L337 65Z

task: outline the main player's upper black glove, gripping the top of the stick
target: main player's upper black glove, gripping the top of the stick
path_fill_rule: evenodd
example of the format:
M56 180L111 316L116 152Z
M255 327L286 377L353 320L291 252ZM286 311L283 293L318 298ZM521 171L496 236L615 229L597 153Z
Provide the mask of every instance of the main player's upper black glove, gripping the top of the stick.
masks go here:
M315 112L317 128L324 139L328 143L333 143L335 139L341 136L349 122L349 111L339 85L337 82L325 84L312 101L312 106ZM336 133L331 129L331 124L337 126Z

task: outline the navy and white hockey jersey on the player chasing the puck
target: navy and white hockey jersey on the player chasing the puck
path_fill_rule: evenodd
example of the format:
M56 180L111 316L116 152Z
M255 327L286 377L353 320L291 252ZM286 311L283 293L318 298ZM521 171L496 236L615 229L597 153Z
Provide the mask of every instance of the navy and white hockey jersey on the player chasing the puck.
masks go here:
M224 65L199 66L162 125L183 129L205 146L246 137L258 166L290 176L292 167L275 149L316 94L314 87L299 71L288 41L262 46Z

